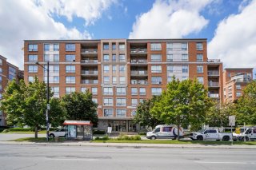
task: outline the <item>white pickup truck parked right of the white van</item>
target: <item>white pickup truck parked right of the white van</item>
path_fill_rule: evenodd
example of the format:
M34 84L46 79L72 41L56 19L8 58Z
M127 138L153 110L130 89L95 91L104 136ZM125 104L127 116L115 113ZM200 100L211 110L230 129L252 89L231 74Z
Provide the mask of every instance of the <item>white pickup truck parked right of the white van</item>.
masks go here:
M191 132L190 139L229 141L232 139L232 133L220 133L216 129L202 129L198 132Z

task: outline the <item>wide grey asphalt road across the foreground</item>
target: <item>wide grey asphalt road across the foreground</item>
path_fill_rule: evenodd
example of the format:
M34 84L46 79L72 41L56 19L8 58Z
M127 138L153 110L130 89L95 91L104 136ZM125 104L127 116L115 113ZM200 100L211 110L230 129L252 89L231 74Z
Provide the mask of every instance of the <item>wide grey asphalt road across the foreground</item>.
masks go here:
M116 148L0 144L1 170L255 170L254 149Z

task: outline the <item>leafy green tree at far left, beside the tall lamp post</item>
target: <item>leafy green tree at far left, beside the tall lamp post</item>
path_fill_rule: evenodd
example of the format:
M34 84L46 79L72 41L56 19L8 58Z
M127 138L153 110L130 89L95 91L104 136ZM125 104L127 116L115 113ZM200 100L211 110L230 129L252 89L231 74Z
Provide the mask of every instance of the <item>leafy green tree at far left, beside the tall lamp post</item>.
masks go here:
M53 94L50 93L50 97ZM34 128L34 136L38 138L38 128L46 125L46 84L35 77L33 83L25 84L23 80L18 83L10 81L6 86L1 101L1 109L6 112L9 125L28 125ZM55 99L50 101L50 123L53 126L60 125L65 116L65 111Z

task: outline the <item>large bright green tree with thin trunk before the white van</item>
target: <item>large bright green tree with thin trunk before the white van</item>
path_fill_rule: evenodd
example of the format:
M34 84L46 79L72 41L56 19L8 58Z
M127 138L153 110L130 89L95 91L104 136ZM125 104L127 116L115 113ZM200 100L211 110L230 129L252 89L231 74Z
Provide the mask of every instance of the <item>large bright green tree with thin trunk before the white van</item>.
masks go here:
M179 81L173 77L150 113L166 124L178 125L179 129L181 125L202 125L206 119L206 111L211 105L207 90L198 80Z

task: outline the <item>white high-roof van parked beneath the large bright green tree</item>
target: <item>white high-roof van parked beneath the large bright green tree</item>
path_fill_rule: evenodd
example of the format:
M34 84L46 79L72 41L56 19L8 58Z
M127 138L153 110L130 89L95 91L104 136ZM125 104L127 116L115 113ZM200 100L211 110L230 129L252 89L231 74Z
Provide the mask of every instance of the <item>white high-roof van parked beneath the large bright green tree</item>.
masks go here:
M178 128L176 125L157 125L153 131L146 133L146 138L155 139L177 139ZM179 137L184 137L183 128L179 128Z

